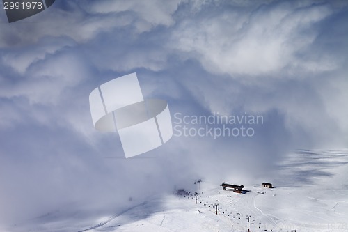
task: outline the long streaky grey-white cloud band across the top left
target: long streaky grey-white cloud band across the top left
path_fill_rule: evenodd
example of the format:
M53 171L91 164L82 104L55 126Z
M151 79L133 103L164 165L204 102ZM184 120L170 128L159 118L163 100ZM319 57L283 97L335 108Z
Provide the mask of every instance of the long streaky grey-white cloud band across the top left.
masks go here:
M126 26L134 29L134 33L143 33L155 26L173 24L172 14L179 3L105 0L79 4L69 1L64 3L65 9L52 7L42 12L40 17L35 15L15 24L1 23L0 47L31 44L45 36L66 36L77 42L87 42L100 33Z

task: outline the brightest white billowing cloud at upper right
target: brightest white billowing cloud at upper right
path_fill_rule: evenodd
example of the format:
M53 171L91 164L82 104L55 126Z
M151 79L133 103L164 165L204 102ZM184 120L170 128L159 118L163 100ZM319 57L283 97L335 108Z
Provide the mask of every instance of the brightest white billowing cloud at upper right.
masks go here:
M311 26L331 13L328 5L294 7L287 2L230 7L210 17L185 18L169 46L217 74L273 74L285 67L306 69L308 63L310 70L332 70L334 65L322 65L327 59L315 65L317 60L296 57L317 36Z

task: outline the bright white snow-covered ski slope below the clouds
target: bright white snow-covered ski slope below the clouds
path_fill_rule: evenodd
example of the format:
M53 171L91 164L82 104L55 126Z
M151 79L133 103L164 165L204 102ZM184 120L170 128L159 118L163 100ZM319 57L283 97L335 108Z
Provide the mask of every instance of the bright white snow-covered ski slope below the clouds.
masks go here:
M88 222L40 223L32 231L348 231L348 150L298 150L279 163L274 188L244 185L246 194L203 180L194 196L151 196ZM243 184L243 183L242 183ZM202 193L203 192L203 193ZM216 215L215 203L218 205ZM0 231L30 231L12 226ZM1 229L1 228L0 228Z

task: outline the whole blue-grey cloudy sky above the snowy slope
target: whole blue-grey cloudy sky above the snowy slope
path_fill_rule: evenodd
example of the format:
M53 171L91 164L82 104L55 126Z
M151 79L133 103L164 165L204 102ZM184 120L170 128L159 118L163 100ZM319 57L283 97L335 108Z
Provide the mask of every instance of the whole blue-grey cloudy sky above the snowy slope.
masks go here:
M347 21L346 1L59 0L13 23L0 10L0 225L122 210L197 178L272 181L296 149L347 148ZM88 96L132 72L173 125L263 121L250 137L174 134L125 159Z

